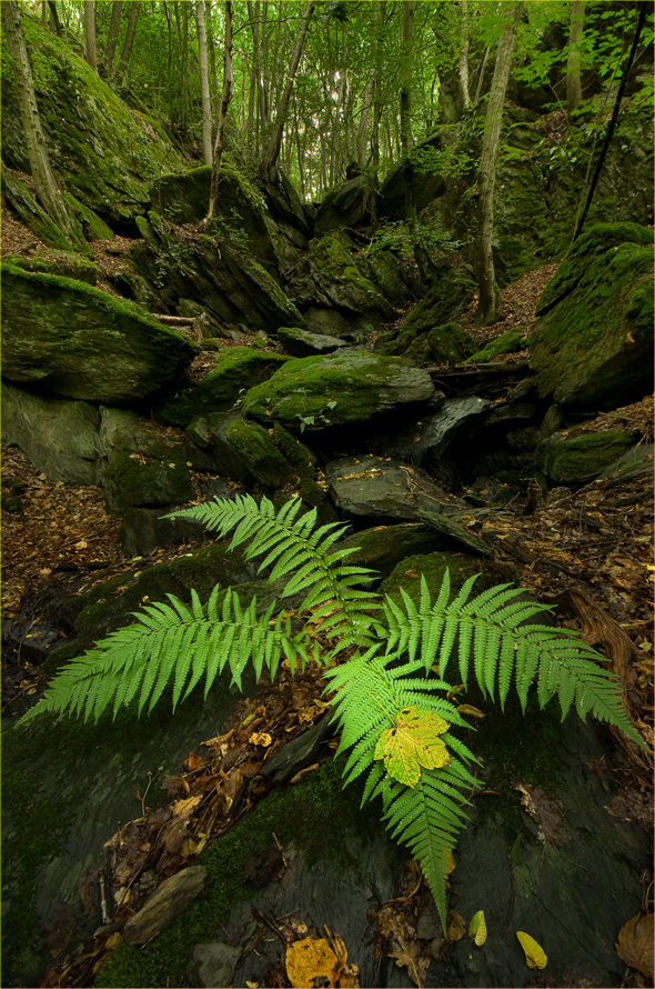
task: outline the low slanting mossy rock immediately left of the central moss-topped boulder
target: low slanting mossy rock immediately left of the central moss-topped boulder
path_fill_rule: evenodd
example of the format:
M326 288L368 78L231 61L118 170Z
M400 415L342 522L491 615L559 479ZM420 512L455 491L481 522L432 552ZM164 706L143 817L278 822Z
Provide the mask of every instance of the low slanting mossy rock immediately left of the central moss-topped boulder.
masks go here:
M189 426L199 416L225 411L244 392L271 377L289 358L280 353L234 347L223 351L203 380L161 404L157 418L169 426Z

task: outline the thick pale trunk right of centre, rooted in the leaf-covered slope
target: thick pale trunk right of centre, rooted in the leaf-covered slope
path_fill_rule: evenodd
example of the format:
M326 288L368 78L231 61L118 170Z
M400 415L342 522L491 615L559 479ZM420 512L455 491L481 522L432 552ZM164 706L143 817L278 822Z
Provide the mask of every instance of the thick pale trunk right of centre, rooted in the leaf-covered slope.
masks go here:
M498 41L494 78L488 96L488 106L482 139L482 154L480 170L477 172L477 216L478 232L475 249L477 268L478 302L475 311L475 321L482 326L495 322L498 309L498 290L493 259L493 232L494 232L494 187L496 183L496 162L501 144L501 128L503 126L503 104L510 81L512 68L512 54L516 40L516 26L521 18L523 3L513 3L511 0L503 6L504 28Z

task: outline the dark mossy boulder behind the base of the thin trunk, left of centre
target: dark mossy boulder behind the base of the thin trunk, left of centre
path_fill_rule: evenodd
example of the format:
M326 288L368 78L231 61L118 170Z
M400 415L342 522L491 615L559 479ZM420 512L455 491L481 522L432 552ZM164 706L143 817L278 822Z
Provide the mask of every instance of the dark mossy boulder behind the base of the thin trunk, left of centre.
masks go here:
M206 216L211 166L162 176L150 190L153 208L173 223L195 223ZM263 197L228 162L221 164L220 191L208 232L252 252L279 279L278 258L266 223Z

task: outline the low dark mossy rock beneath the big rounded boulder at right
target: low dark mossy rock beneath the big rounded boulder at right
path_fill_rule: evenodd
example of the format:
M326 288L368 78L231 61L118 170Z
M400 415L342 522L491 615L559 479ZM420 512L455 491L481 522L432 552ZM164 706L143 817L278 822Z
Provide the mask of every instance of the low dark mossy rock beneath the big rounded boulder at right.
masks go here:
M552 481L584 483L597 478L606 467L635 446L635 438L619 429L582 436L552 436L535 450L537 462Z

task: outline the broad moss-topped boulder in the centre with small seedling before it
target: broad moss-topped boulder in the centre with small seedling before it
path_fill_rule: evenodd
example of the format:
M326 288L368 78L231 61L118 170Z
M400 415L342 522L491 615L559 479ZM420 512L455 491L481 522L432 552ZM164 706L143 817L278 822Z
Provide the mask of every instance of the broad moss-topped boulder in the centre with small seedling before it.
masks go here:
M290 360L264 384L245 396L245 417L290 429L323 429L345 422L365 422L434 394L427 371L397 358L365 350L337 351L326 357Z

